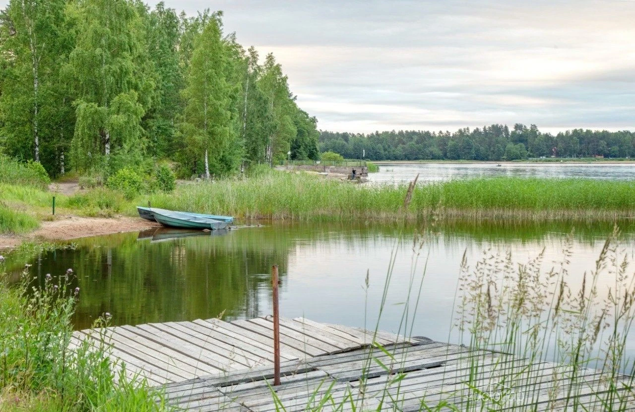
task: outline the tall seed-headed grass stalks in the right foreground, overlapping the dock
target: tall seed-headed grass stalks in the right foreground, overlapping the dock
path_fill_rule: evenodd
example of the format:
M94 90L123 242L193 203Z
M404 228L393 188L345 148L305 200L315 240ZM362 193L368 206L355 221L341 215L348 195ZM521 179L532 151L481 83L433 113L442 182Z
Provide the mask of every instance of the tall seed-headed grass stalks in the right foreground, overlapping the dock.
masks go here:
M403 316L395 325L398 333L406 335L412 333L413 319L424 316L417 309L429 258L420 236L415 236L412 246ZM422 263L420 256L425 257ZM617 228L595 266L584 273L573 273L570 240L563 245L561 261L551 269L549 264L545 269L542 253L518 264L509 253L486 250L474 267L464 256L453 326L460 331L458 362L465 369L441 364L428 374L412 372L415 378L408 381L410 372L400 371L406 357L398 349L375 343L374 351L366 351L359 380L352 378L344 387L324 380L309 392L304 409L632 411L635 363L625 354L635 320L630 256L620 246ZM385 293L392 282L394 259L395 254L387 262ZM377 308L379 317L385 304L383 299ZM370 374L378 367L385 370L383 381ZM423 383L416 383L418 379ZM273 387L271 396L276 411L295 408L286 405Z

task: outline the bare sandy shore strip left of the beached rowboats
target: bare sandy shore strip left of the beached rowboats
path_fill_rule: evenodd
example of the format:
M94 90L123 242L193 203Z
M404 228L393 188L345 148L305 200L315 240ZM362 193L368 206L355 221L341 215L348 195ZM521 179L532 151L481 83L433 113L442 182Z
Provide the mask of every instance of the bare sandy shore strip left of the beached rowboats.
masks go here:
M60 216L55 221L42 222L36 231L23 236L0 236L0 249L20 245L24 240L70 240L87 236L133 232L161 226L139 217L77 217Z

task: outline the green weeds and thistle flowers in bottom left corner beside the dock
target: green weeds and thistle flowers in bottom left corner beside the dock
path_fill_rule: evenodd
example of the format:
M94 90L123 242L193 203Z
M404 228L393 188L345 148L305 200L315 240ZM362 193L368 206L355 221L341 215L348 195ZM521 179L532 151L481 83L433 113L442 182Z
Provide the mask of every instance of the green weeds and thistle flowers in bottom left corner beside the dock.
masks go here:
M47 274L35 287L26 267L22 283L8 286L3 262L0 257L1 411L167 410L161 394L143 380L113 373L107 337L70 349L70 318L79 297L79 288L69 286L71 269ZM105 323L101 318L95 326Z

